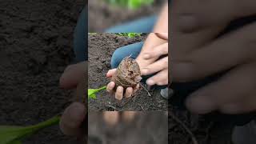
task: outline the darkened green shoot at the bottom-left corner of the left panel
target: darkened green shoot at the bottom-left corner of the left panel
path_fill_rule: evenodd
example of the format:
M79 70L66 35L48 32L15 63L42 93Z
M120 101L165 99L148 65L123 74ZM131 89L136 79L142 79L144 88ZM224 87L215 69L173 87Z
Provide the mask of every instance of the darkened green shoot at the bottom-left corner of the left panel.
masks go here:
M56 116L34 126L0 126L0 144L22 144L24 138L46 127L57 125L59 120Z

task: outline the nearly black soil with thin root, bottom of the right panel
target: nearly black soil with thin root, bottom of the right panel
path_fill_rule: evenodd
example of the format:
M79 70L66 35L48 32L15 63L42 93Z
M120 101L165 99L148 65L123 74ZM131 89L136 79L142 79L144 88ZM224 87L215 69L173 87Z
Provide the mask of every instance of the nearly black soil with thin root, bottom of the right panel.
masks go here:
M182 122L194 134L198 144L232 144L232 126L206 121L202 116L190 114L188 111L170 110L170 112L169 143L194 144L191 142L190 134L180 124Z

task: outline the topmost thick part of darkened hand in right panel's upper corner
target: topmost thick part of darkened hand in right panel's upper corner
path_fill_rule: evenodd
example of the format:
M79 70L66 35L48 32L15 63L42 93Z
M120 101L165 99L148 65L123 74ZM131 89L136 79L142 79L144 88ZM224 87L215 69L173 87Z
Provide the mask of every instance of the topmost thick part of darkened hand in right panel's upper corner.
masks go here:
M228 0L172 2L170 9L172 21L173 56L178 56L191 50L198 49L210 42L223 31L231 21L254 15L256 1ZM217 10L218 9L218 10ZM217 11L216 11L217 10ZM178 49L176 48L178 47ZM172 57L174 58L174 57Z

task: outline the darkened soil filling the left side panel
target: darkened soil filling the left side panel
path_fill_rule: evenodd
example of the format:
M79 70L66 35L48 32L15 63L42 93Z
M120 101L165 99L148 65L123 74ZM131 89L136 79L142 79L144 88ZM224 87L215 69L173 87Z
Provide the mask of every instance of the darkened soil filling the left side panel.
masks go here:
M28 126L61 113L72 92L58 79L74 61L74 26L84 2L78 0L0 1L0 125ZM58 126L24 144L75 143Z

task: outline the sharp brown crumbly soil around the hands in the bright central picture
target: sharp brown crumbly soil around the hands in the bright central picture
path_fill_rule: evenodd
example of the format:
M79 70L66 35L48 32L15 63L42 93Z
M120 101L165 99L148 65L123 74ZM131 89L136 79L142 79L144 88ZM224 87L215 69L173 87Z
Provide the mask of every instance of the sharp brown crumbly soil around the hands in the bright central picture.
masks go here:
M141 37L127 38L117 34L89 34L89 72L88 87L96 89L106 86L110 79L106 73L111 69L110 58L118 47L126 46L135 42L142 42L146 34ZM139 90L133 98L124 98L121 102L114 95L102 90L96 99L88 102L89 110L167 110L168 102L162 98L159 90L151 90L151 96L146 90Z

